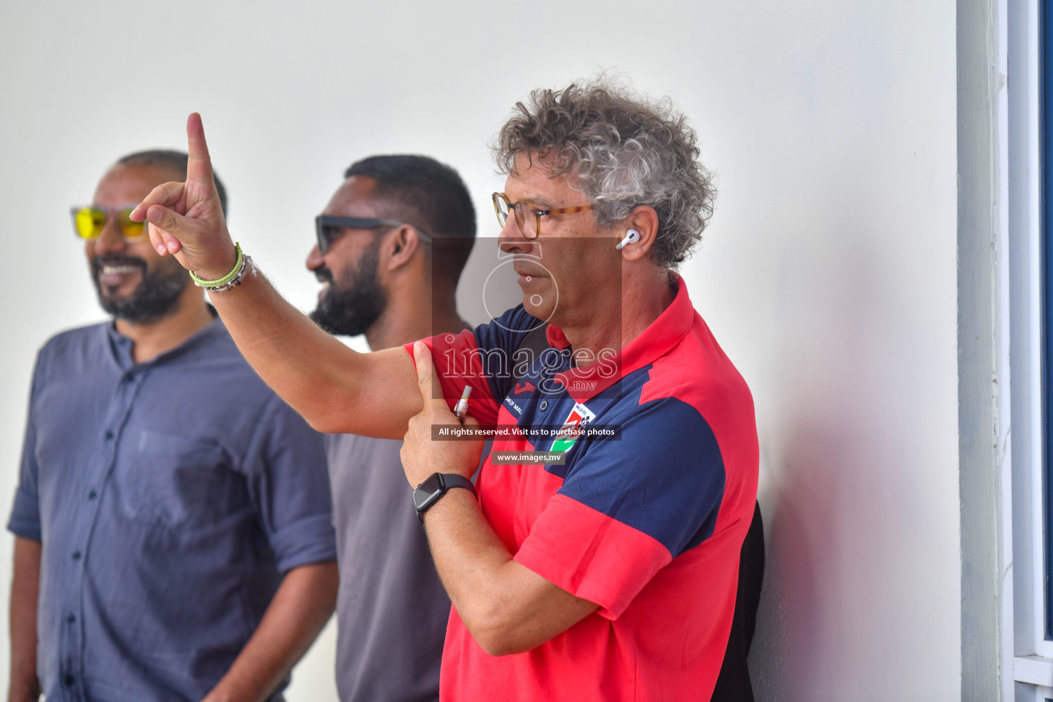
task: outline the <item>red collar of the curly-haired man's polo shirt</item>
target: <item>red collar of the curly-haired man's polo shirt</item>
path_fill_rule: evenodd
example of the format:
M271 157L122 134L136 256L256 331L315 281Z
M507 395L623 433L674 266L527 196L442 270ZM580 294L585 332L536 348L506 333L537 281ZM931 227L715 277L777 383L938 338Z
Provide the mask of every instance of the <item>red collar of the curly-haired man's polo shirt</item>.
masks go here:
M654 363L680 343L694 323L695 308L688 297L683 278L676 276L675 279L676 296L673 302L619 354L605 361L596 361L556 374L556 381L567 387L568 394L576 402L596 397L634 370ZM545 338L549 345L560 350L570 347L563 330L556 326L550 325L545 329ZM612 363L615 368L613 373Z

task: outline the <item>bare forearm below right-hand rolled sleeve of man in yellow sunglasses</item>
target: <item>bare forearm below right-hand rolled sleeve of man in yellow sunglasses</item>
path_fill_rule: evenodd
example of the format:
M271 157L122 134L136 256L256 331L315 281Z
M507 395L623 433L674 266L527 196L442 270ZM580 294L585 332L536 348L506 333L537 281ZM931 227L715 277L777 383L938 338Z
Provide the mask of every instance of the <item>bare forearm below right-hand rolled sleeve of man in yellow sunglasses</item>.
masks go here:
M337 583L333 562L290 570L249 643L203 702L266 699L333 614Z

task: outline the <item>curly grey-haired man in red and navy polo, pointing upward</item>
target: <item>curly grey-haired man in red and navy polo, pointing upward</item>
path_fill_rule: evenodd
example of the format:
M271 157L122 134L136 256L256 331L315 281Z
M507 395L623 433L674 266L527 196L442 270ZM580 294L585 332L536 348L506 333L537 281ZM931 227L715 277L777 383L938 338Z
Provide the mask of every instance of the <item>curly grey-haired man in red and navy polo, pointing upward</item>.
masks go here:
M186 183L132 217L210 285L245 264L197 116L187 134ZM694 132L600 80L533 93L496 153L500 265L523 302L491 322L357 354L262 276L215 306L315 428L404 438L454 605L444 699L709 700L758 450L750 390L676 274L712 212Z

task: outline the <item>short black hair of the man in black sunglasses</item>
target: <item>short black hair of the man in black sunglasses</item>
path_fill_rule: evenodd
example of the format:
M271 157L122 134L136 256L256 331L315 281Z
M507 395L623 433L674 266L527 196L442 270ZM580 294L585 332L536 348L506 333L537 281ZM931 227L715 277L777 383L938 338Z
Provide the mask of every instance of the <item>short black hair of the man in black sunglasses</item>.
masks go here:
M352 176L376 181L388 216L432 235L433 270L456 285L475 244L475 207L457 172L428 156L389 155L356 161L343 174Z

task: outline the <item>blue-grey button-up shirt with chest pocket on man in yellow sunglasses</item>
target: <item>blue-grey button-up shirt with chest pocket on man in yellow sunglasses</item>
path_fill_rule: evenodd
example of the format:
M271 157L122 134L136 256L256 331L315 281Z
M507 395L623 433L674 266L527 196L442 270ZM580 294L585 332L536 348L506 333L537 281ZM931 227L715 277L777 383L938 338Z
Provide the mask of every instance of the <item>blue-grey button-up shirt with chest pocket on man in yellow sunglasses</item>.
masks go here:
M8 528L42 543L49 701L196 702L281 574L336 555L321 438L219 320L147 363L131 350L106 323L37 358Z

